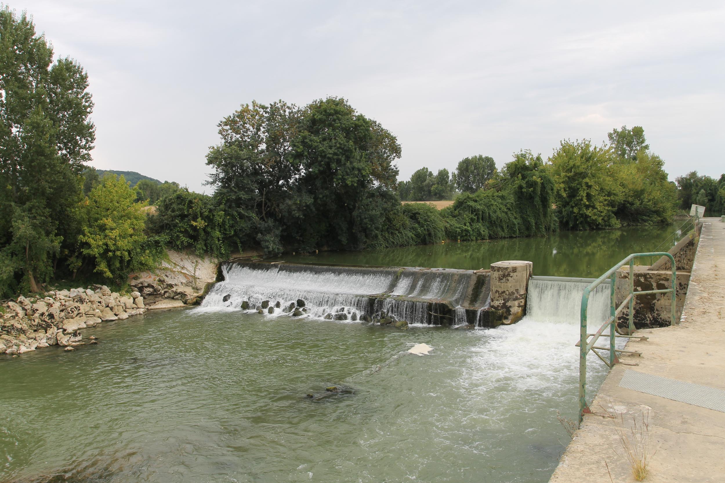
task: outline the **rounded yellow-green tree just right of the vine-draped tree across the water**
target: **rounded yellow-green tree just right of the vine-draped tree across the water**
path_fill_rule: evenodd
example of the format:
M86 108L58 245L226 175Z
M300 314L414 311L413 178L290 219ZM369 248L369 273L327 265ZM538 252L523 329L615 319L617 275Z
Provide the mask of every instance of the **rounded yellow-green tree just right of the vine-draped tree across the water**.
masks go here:
M549 161L555 182L560 222L568 230L619 226L615 211L621 200L613 152L590 140L563 140Z

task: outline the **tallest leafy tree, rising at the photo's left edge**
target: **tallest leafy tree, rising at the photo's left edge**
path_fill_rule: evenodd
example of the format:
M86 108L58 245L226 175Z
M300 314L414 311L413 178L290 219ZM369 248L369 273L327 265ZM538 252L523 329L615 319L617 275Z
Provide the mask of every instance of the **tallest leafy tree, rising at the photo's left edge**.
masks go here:
M86 88L83 67L53 62L33 22L0 7L0 258L33 291L75 243L67 234L95 140Z

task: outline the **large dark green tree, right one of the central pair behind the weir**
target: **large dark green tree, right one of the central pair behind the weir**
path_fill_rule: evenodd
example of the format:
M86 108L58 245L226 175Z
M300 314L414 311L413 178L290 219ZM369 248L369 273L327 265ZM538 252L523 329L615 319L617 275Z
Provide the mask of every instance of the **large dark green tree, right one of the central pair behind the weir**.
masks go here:
M397 205L397 197L385 195L395 185L399 154L394 136L344 99L307 106L294 140L294 159L302 168L299 189L307 206L306 240L297 243L363 248L375 238L384 218L370 217L368 211Z

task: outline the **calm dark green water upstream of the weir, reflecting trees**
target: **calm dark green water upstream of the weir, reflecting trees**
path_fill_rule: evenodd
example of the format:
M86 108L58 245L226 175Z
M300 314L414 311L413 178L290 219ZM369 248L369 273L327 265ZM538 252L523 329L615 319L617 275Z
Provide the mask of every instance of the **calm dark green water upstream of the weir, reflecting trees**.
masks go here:
M283 259L322 264L452 269L481 269L488 268L495 261L528 260L534 262L534 274L537 275L599 277L629 253L654 251L680 224L585 232L562 231L548 237L450 242L374 251L285 255ZM641 264L645 262L638 261Z

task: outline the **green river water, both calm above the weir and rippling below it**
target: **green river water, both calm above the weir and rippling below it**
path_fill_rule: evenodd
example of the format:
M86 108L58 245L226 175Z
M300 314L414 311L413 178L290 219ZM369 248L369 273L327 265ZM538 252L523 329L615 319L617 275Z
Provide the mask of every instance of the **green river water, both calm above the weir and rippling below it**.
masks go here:
M606 256L562 232L315 260L593 276L668 228L596 232ZM557 411L576 419L578 332L556 316L398 330L204 308L106 322L83 331L98 345L0 356L0 482L547 482L569 441ZM405 352L417 343L431 355ZM329 385L355 394L305 398Z

